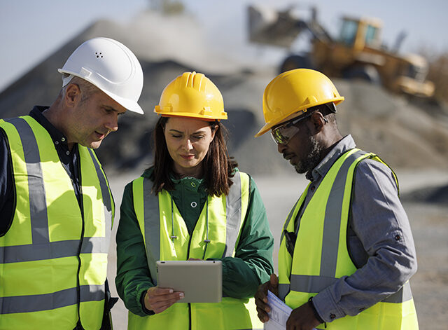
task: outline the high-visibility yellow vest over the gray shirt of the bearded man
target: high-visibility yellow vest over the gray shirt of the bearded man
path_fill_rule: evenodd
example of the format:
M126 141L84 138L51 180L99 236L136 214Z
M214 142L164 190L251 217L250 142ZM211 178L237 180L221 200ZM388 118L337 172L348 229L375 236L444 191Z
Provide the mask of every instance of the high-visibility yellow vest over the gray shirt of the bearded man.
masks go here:
M355 273L346 245L351 193L356 166L365 159L380 161L373 153L351 149L335 162L309 201L302 217L293 258L282 236L279 249L279 296L290 308L307 303L311 296ZM394 174L395 176L395 174ZM396 181L396 177L395 177ZM307 195L302 193L283 229L295 231L294 219ZM327 330L414 330L419 329L409 282L395 294L363 310L317 326Z

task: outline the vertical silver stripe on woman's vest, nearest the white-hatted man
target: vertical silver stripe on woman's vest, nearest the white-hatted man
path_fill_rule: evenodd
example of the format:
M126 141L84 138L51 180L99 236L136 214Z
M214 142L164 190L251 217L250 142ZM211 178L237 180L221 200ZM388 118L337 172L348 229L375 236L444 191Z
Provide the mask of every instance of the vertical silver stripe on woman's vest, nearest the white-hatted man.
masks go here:
M151 193L153 183L150 179L143 179L145 241L148 268L153 283L157 285L157 266L160 260L160 210L159 198Z

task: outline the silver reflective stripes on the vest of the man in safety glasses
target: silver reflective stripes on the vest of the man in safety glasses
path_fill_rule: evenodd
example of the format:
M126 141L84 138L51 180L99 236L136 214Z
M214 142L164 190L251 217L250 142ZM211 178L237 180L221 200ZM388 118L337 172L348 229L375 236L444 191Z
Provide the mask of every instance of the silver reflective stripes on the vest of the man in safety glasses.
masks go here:
M335 181L332 184L330 195L328 197L327 207L325 209L325 219L323 225L323 245L321 254L321 270L320 276L310 275L291 275L290 287L288 284L279 284L279 295L284 297L289 290L317 293L335 283L338 278L336 274L337 250L339 246L339 230L341 226L342 203L344 198L344 190L349 167L354 161L365 155L365 151L356 151L352 153L339 169ZM281 286L281 287L280 287ZM281 294L280 294L281 291ZM284 296L281 296L283 295ZM398 292L388 296L384 302L402 303L412 298L409 282L405 284Z

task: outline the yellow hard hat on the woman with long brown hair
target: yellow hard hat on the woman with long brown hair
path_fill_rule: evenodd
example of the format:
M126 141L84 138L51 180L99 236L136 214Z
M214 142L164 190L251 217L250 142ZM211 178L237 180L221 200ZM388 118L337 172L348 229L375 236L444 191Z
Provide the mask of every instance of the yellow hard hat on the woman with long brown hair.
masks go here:
M165 87L154 112L204 120L227 119L223 95L204 74L184 72Z

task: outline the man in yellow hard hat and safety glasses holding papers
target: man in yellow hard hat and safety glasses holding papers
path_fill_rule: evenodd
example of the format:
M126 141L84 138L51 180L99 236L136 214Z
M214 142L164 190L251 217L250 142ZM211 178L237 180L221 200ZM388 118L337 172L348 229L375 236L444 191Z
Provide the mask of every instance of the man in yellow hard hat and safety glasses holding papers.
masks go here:
M398 181L381 158L337 128L344 97L318 71L274 78L265 126L309 185L283 226L279 276L255 294L267 322L267 290L293 308L286 329L418 329L409 278L416 254Z

